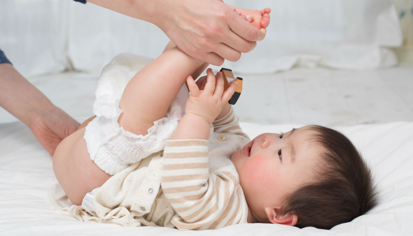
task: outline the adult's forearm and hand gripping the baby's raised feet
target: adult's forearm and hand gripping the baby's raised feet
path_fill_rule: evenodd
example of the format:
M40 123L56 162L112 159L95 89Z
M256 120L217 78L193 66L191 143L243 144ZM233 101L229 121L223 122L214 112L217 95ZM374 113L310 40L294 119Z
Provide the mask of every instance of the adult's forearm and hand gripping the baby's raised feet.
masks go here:
M221 65L224 59L237 61L241 52L255 48L265 37L266 29L258 29L244 20L220 0L88 0L121 14L151 22L158 26L185 53L209 64ZM238 9L240 10L240 9ZM269 9L262 14L243 10L254 21L269 22ZM261 12L261 11L254 11ZM263 19L265 18L265 19Z

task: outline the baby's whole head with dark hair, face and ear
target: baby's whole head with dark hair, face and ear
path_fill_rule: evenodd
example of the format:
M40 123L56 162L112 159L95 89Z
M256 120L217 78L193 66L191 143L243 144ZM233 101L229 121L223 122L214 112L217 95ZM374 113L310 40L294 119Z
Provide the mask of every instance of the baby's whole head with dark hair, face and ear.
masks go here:
M263 133L231 160L249 217L261 223L330 229L377 204L366 163L351 141L333 129L304 126Z

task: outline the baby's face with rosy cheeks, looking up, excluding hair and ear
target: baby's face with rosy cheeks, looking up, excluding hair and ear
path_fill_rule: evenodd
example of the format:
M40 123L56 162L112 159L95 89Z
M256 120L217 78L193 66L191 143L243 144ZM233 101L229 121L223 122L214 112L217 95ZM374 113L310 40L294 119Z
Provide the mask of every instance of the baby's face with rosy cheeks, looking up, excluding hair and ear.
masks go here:
M263 133L232 155L253 212L282 207L286 196L314 179L318 147L309 140L312 132Z

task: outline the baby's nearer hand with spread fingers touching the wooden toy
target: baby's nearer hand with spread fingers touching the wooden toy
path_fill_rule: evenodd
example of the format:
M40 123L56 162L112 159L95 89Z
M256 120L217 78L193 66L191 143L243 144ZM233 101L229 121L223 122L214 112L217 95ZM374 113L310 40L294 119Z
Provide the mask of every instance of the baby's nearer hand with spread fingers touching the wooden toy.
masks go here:
M237 87L237 82L233 81L230 87L224 91L224 78L221 72L216 73L212 69L207 69L207 83L203 90L200 90L191 76L187 77L190 96L185 106L185 114L194 114L212 124L214 119L221 112L222 106L228 103Z

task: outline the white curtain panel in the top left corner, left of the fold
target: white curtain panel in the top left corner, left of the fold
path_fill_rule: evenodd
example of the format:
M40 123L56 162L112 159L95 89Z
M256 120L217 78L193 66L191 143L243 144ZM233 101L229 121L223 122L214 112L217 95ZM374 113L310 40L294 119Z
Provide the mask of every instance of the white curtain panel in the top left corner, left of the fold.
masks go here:
M1 0L0 48L24 76L63 71L68 1Z

